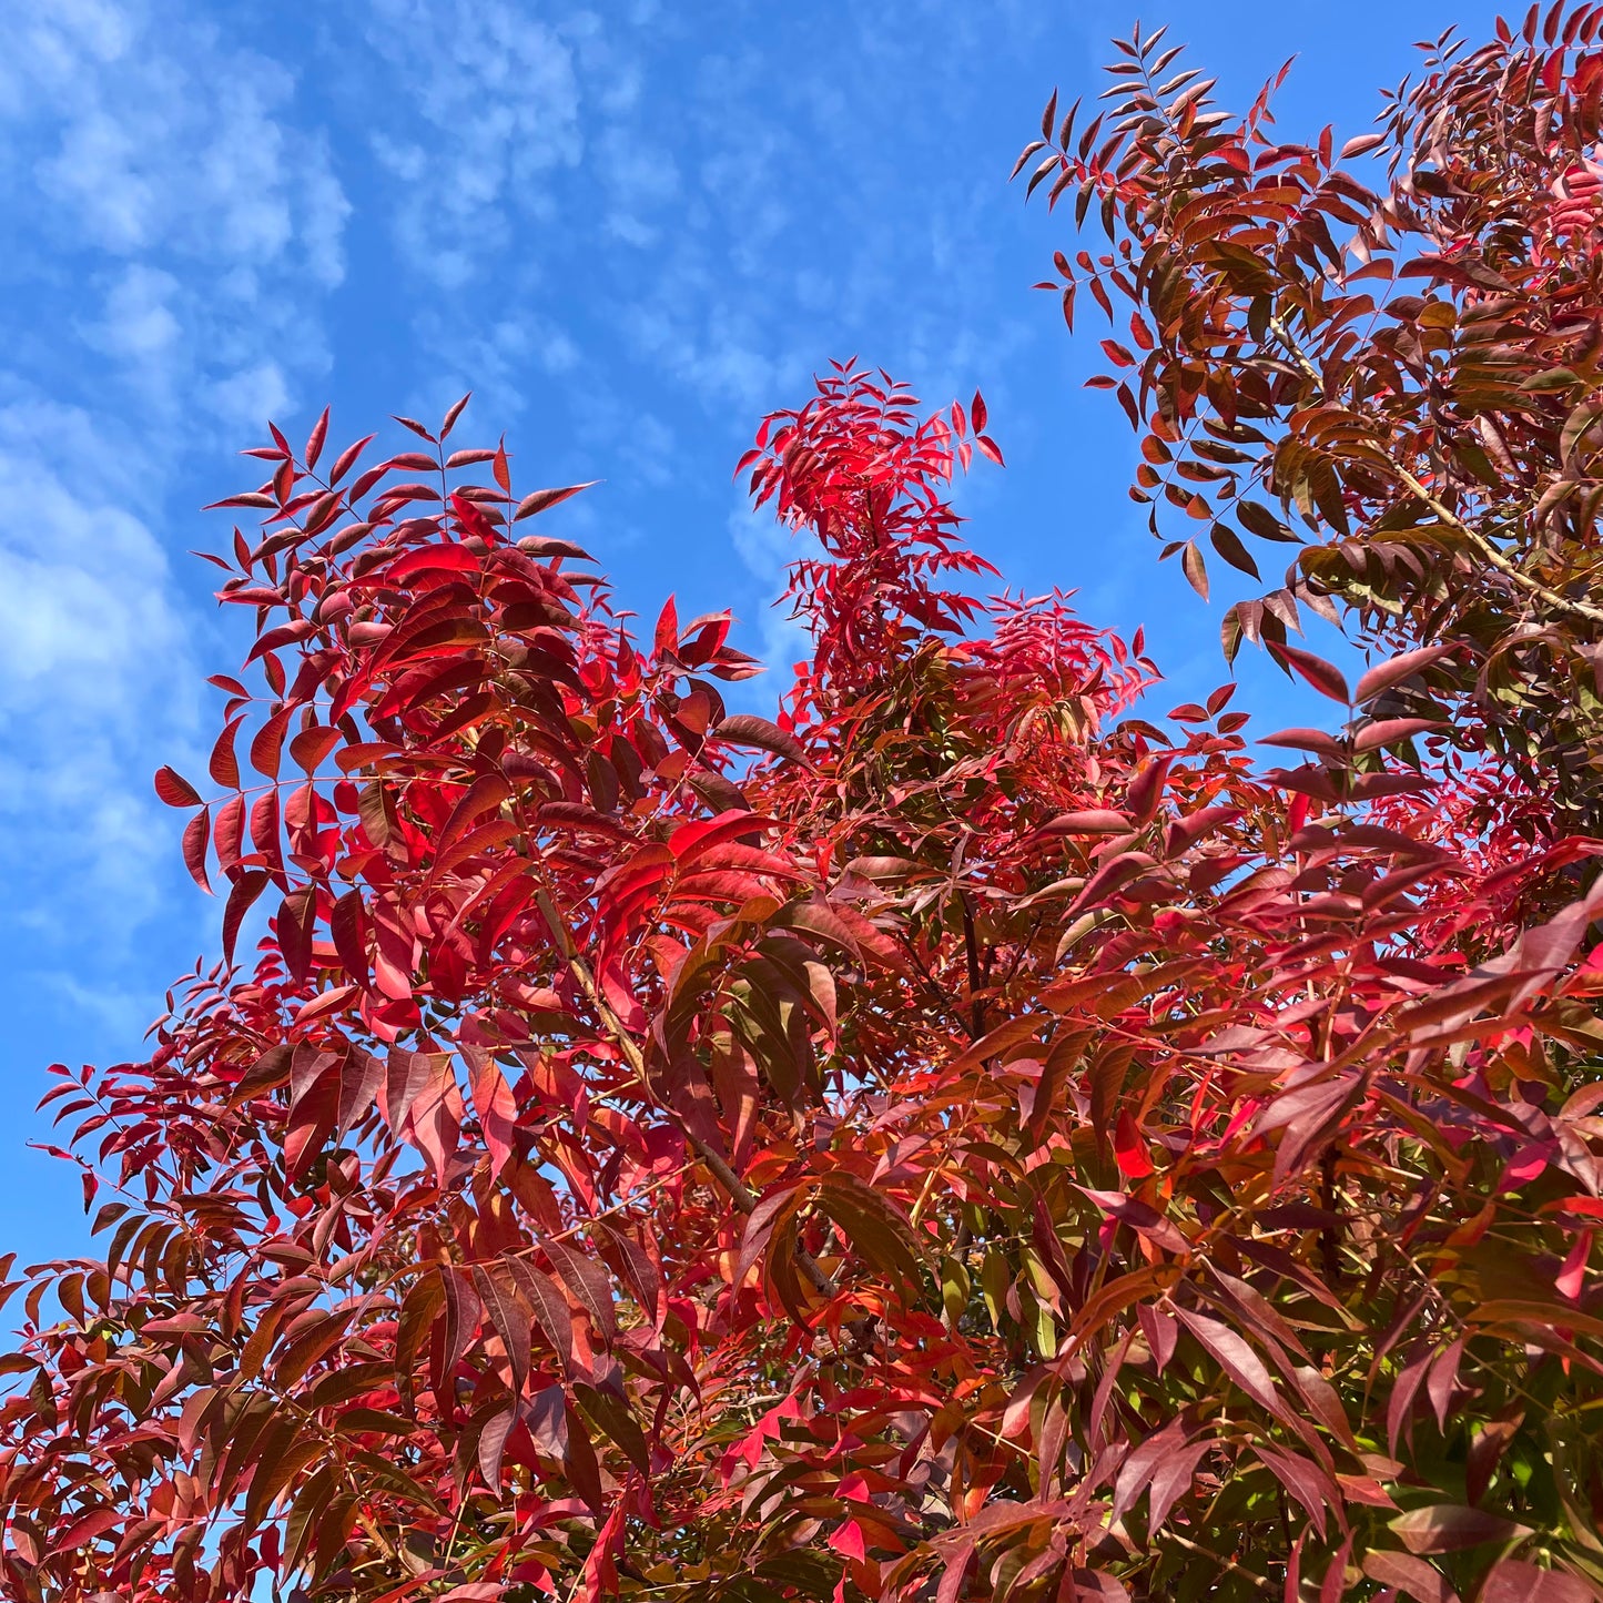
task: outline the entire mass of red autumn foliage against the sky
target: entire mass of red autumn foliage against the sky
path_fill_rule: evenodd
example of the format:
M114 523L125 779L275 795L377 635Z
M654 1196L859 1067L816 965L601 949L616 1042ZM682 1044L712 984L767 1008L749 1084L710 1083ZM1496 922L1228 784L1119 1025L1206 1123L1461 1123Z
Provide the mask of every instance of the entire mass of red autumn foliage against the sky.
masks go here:
M46 1098L104 1255L13 1281L5 1595L1603 1597L1600 16L1444 43L1367 178L1140 37L1048 109L1138 494L1300 543L1268 757L1000 588L978 396L761 425L776 721L460 407L274 430L157 776L223 962Z

